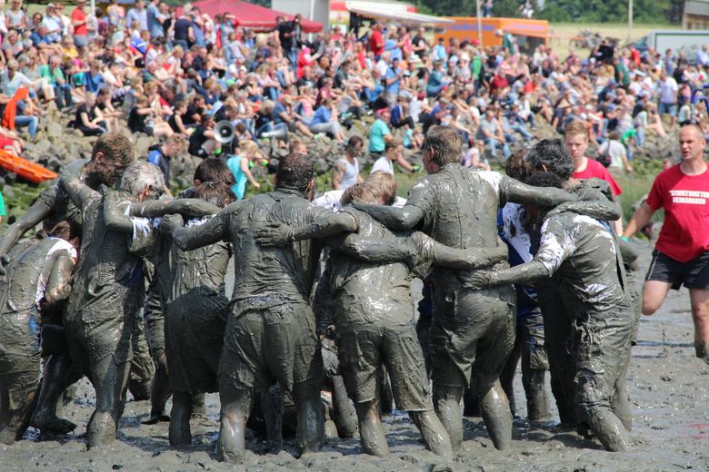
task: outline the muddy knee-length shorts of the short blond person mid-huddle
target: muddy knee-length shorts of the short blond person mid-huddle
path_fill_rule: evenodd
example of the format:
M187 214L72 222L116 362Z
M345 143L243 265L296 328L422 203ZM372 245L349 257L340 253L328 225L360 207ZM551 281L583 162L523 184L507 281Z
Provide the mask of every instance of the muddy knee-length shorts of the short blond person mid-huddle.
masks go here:
M378 391L379 366L384 364L392 383L396 408L406 411L433 409L424 353L413 324L336 326L340 372L350 398L357 403L373 400Z

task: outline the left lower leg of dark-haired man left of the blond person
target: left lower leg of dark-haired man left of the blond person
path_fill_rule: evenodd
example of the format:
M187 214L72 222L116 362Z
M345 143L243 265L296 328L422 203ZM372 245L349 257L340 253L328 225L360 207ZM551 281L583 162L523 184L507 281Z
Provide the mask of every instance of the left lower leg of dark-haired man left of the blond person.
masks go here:
M237 464L245 451L246 421L251 407L251 388L220 388L222 403L216 455L223 462Z

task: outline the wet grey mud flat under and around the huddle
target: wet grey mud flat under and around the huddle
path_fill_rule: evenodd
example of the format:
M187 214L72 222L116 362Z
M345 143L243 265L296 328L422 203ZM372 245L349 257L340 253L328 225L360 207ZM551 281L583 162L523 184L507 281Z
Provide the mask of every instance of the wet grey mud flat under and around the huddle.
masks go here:
M641 272L652 247L643 243ZM231 271L227 273L233 273ZM418 299L420 283L414 284ZM208 418L193 420L193 447L172 449L167 423L146 426L150 404L128 401L118 439L103 450L86 451L86 423L95 406L93 389L83 379L77 399L65 407L65 418L78 424L74 434L39 438L30 429L25 440L0 446L0 472L5 471L201 471L201 470L709 470L709 367L694 358L693 324L687 290L671 291L663 308L643 317L633 348L628 388L633 408L633 450L606 452L600 444L580 438L554 423L530 425L519 376L515 379L517 415L509 450L496 451L480 418L464 419L464 445L453 462L426 451L404 412L384 419L391 447L387 458L361 454L359 439L328 440L322 452L295 458L292 441L276 455L250 437L242 466L215 460L219 401L208 395ZM129 395L130 398L130 395ZM168 408L170 404L168 403ZM554 405L553 405L554 410ZM555 412L554 412L555 416ZM558 420L558 417L554 418Z

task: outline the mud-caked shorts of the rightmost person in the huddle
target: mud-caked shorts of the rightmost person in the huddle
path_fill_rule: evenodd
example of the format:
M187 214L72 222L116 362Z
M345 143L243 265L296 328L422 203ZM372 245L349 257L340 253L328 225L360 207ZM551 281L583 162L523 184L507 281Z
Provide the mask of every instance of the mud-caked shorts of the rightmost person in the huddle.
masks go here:
M624 371L635 325L631 300L574 323L575 400L589 415L611 408L615 382Z

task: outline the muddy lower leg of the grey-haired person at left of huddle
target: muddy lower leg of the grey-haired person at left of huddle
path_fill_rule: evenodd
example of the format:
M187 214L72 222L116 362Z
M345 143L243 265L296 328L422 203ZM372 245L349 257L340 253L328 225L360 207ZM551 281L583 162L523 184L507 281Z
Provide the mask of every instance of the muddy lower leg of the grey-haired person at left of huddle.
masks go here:
M86 428L89 449L115 440L118 419L123 414L130 362L116 364L113 356L105 356L90 369L96 390L96 408Z

